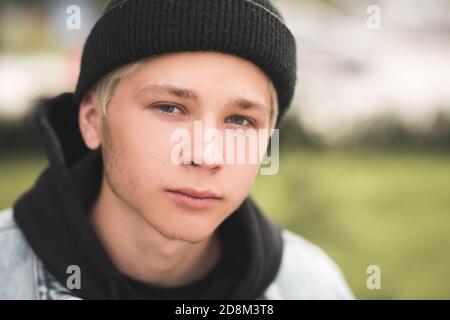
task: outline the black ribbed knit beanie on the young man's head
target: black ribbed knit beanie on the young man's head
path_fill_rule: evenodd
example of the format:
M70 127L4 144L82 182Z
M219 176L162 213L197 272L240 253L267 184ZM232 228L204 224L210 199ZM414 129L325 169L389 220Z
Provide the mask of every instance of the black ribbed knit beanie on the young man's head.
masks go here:
M114 69L163 53L217 51L253 62L277 91L277 127L295 89L296 44L270 0L111 0L84 45L75 90Z

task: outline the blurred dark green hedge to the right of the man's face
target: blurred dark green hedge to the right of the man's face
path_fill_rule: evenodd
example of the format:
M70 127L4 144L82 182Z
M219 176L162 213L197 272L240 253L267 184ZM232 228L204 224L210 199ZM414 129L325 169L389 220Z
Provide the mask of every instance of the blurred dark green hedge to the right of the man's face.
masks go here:
M394 113L382 113L358 122L342 136L328 142L309 132L294 116L287 117L280 126L280 145L283 148L309 149L379 149L450 151L450 112L436 111L423 127L407 124Z

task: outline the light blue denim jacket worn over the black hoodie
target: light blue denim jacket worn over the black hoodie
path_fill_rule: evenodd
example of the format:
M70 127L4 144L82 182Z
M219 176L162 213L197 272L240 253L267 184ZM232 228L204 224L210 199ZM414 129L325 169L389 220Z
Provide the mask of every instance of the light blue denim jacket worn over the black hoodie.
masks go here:
M283 230L281 266L259 299L353 299L338 266L319 247ZM16 225L0 212L0 299L79 299L52 277Z

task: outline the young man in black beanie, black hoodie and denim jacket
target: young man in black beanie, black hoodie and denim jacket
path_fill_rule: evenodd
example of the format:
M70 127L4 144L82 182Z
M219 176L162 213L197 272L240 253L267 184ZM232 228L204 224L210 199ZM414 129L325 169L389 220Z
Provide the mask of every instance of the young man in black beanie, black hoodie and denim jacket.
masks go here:
M198 124L271 132L295 82L295 40L267 0L111 1L75 94L40 108L49 167L0 215L0 298L352 298L248 196L259 162L195 143Z

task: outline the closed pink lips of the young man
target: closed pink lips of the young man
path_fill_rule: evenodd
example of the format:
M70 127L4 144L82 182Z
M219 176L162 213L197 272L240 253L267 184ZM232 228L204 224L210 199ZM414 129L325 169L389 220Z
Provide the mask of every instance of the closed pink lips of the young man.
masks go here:
M205 209L216 205L222 197L209 190L166 189L180 205L190 209Z

